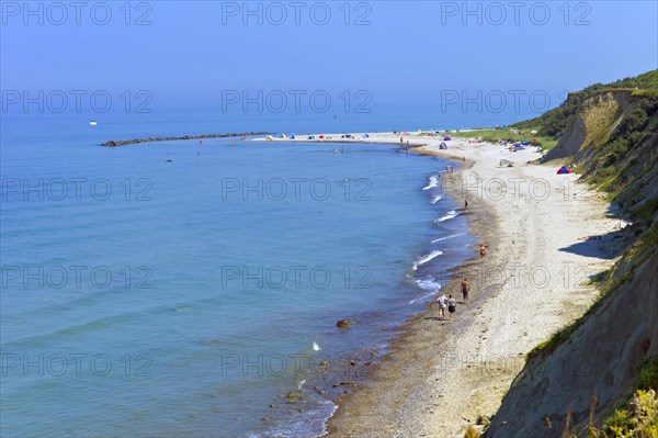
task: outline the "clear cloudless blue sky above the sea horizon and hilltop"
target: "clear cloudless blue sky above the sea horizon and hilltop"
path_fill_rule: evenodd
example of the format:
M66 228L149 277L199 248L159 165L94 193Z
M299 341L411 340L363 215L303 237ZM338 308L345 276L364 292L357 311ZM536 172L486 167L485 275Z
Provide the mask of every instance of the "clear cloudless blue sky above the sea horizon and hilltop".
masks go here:
M656 1L73 3L1 2L2 90L146 89L191 105L225 90L368 90L417 103L658 67Z

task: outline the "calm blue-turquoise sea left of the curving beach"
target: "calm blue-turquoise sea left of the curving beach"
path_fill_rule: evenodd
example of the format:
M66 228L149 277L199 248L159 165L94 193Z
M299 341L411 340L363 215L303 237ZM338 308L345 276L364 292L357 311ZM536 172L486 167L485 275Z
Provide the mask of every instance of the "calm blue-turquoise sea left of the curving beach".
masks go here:
M223 127L3 121L0 435L319 435L469 256L445 162L395 146L98 147L260 128Z

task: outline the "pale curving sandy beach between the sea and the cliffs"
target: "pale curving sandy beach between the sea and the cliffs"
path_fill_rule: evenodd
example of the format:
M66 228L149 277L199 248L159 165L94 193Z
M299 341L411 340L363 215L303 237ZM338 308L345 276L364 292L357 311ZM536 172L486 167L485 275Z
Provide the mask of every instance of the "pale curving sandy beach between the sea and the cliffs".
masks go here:
M316 142L340 138L319 135ZM392 133L342 141L400 145ZM614 242L587 238L623 224L606 217L604 195L577 175L556 175L560 164L531 162L540 158L534 148L512 153L452 139L440 150L440 137L407 141L410 153L462 165L442 173L442 187L468 200L470 232L488 251L480 259L474 247L474 258L443 288L457 299L455 317L441 321L429 302L408 321L372 381L338 401L330 437L462 437L478 416L496 413L525 353L587 311L597 296L590 277L614 262ZM513 167L499 167L501 159ZM462 277L472 284L466 303Z

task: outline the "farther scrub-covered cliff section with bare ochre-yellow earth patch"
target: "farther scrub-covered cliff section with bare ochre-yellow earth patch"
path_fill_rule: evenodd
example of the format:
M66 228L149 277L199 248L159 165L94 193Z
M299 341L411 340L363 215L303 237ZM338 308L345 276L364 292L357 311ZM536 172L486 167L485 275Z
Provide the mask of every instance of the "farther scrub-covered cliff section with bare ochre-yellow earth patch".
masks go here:
M620 90L588 98L544 161L555 159L574 162L632 218L650 217L658 200L658 94Z

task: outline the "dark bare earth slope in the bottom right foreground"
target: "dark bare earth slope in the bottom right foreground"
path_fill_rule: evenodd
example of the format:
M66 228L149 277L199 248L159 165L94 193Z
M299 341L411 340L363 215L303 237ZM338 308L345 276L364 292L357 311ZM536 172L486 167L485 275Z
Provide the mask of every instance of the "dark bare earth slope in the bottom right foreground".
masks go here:
M628 395L643 359L658 355L658 251L553 353L530 360L494 417L487 438L561 437L594 423Z

